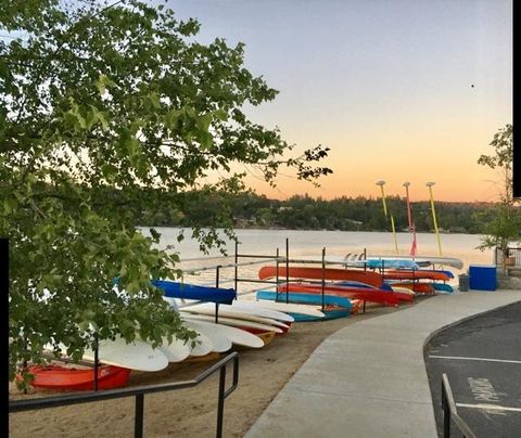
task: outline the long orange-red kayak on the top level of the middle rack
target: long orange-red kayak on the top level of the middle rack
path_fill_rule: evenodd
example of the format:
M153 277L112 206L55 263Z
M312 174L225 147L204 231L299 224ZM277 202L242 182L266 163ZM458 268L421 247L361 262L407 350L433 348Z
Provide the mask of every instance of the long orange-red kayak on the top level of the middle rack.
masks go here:
M361 271L356 269L333 269L333 268L300 268L290 267L287 275L285 267L279 266L278 276L284 279L310 279L310 280L343 280L364 283L373 287L382 287L382 275L373 271ZM260 280L272 279L277 276L277 267L265 266L259 269L258 278Z

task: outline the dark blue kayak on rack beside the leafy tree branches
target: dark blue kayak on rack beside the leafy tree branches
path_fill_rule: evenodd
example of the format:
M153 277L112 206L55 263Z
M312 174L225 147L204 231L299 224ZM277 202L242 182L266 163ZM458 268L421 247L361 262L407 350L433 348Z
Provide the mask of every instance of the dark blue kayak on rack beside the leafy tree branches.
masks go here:
M196 286L167 280L153 280L152 284L162 288L165 292L165 296L169 298L196 299L227 305L231 305L237 298L237 292L232 288Z

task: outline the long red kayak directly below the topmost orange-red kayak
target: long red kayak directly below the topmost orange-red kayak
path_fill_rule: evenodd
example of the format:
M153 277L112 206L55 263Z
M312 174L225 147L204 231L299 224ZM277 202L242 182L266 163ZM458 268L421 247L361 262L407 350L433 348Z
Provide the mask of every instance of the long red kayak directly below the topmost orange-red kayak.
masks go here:
M316 283L290 283L279 285L279 291L319 295L322 292L322 286ZM386 306L397 306L399 299L408 301L412 300L412 297L409 294L371 289L367 287L327 285L325 287L325 293L345 298L361 299L363 301L380 302Z

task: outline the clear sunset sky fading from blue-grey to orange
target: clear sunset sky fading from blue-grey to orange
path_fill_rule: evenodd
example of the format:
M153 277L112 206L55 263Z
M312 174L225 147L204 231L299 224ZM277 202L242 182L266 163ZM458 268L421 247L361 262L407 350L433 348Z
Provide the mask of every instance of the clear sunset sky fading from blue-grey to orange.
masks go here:
M163 1L161 1L163 3ZM478 165L512 123L507 0L167 0L198 40L245 43L245 66L279 90L250 118L297 146L330 147L320 188L281 175L259 194L493 202L500 175ZM473 86L473 87L472 87Z

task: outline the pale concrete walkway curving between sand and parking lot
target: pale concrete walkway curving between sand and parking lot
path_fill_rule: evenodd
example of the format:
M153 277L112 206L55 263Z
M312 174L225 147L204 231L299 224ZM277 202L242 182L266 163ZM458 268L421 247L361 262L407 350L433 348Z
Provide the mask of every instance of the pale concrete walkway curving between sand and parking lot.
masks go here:
M520 300L521 291L444 294L341 328L245 436L436 438L424 344L443 327Z

